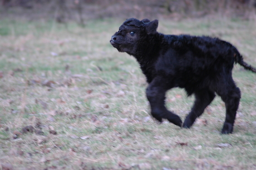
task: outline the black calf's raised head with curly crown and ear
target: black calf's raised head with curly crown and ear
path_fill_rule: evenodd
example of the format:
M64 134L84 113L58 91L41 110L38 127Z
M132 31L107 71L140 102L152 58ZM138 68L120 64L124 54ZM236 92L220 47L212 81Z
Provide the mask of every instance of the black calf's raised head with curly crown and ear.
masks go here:
M156 33L157 27L158 20L150 22L149 19L126 19L119 27L119 31L111 37L110 43L119 52L135 54L137 48L146 43L147 37Z

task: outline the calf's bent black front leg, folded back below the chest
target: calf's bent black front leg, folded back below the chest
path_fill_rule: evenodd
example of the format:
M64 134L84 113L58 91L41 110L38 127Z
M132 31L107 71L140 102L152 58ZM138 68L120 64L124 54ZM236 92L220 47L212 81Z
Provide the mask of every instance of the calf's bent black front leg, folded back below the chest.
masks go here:
M181 127L182 121L180 117L166 109L165 93L170 89L167 84L161 81L161 78L155 78L146 89L146 96L151 107L152 117L162 122L163 118L169 122Z

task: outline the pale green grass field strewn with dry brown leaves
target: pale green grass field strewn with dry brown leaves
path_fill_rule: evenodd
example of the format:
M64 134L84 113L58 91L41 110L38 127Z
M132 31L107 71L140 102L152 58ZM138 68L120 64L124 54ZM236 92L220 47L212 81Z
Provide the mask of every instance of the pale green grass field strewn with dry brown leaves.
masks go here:
M140 18L142 19L142 18ZM256 169L256 74L236 65L242 91L233 134L216 97L191 129L154 122L135 59L109 40L123 21L0 21L2 169ZM159 32L219 37L256 67L256 22L160 19ZM168 92L184 120L194 97ZM1 169L1 168L0 168Z

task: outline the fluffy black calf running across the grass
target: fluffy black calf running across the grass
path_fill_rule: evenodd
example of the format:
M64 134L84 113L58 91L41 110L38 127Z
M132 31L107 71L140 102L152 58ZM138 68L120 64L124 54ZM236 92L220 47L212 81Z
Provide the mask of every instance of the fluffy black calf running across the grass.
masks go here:
M256 72L243 61L232 44L218 38L188 35L165 35L156 31L158 21L127 19L112 36L110 43L119 52L137 59L149 86L146 96L151 114L162 122L190 128L195 119L213 101L215 93L225 102L226 118L221 133L232 133L240 90L232 78L234 63ZM195 103L184 123L165 107L165 93L171 88L184 88L195 95Z

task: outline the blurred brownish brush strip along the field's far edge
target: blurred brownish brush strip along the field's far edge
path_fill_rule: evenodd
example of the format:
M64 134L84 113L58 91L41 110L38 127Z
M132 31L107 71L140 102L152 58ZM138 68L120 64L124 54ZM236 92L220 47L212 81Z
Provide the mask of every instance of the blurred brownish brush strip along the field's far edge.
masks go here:
M31 21L54 18L85 26L99 18L199 18L205 16L254 19L255 0L0 0L0 19L26 18Z

